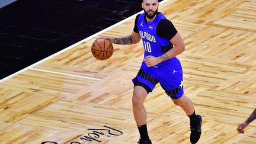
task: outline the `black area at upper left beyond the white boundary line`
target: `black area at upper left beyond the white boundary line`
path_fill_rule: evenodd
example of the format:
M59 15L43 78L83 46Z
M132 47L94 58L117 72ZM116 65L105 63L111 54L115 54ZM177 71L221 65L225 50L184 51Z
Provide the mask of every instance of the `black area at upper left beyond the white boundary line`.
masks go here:
M0 79L142 11L132 0L18 0L0 9Z

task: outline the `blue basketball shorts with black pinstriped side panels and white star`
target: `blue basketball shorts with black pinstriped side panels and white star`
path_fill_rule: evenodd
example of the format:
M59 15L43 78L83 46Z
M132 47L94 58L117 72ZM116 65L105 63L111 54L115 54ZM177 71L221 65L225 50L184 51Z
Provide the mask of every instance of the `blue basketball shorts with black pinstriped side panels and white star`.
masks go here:
M135 86L142 86L148 93L152 92L159 82L171 98L178 99L184 94L183 70L178 59L171 65L158 66L157 68L154 66L148 67L143 62L137 76L132 81Z

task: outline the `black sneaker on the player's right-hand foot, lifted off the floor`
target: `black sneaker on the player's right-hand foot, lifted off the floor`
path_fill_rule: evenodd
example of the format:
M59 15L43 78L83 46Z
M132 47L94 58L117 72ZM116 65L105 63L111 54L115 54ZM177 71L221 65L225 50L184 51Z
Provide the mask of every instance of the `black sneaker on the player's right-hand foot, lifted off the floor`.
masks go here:
M195 127L190 127L190 142L191 143L197 143L198 140L200 139L201 136L201 116L197 115L199 117L199 125L195 126Z

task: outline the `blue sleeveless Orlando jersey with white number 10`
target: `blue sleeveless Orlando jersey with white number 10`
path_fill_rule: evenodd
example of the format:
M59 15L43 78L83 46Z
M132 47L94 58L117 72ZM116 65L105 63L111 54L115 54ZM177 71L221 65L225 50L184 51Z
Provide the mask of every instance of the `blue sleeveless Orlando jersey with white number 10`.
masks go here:
M160 20L167 18L165 18L165 16L160 12L158 15L156 15L155 20L146 23L144 17L145 14L143 13L139 16L137 21L137 28L139 30L140 37L142 37L143 47L145 50L144 57L149 55L155 57L161 56L165 53L161 47L169 46L171 42L165 37L158 36L156 34L156 27ZM158 63L156 66L171 65L176 63L177 60L178 59L176 57L172 57L171 59ZM143 62L142 65L146 65L145 62Z

